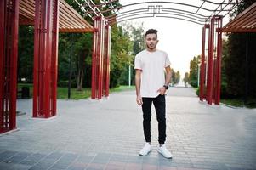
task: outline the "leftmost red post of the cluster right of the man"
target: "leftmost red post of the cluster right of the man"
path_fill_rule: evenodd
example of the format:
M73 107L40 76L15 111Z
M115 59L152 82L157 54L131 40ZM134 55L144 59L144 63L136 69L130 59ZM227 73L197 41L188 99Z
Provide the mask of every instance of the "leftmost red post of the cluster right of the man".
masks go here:
M205 77L204 77L204 72L205 72L205 30L206 30L206 26L202 27L202 54L201 54L201 69L200 69L200 91L199 91L199 97L200 100L203 100L203 95L204 95L204 81L205 81Z

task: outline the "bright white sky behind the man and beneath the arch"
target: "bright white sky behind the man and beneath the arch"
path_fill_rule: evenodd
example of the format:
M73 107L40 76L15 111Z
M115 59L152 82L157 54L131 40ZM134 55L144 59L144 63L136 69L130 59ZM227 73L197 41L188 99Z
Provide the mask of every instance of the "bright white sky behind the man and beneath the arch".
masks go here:
M183 1L183 2L182 2ZM121 4L148 2L139 0L120 0ZM187 3L185 0L179 0L178 3ZM202 1L194 0L194 5L200 6ZM147 4L138 7L133 6L129 8L146 8ZM154 5L157 5L154 3ZM210 4L208 4L210 5ZM172 8L179 8L173 5ZM208 6L208 8L214 8ZM181 9L185 9L184 7ZM192 12L195 8L188 8ZM202 9L201 9L202 10ZM211 12L212 13L212 12ZM144 19L129 20L134 26L139 26L142 22L144 23L144 29L154 28L158 30L159 43L158 49L162 49L168 53L169 59L172 63L174 71L179 71L181 78L185 76L185 72L190 71L190 60L197 55L201 54L202 51L202 26L195 23L177 20L171 18L162 17L151 17Z

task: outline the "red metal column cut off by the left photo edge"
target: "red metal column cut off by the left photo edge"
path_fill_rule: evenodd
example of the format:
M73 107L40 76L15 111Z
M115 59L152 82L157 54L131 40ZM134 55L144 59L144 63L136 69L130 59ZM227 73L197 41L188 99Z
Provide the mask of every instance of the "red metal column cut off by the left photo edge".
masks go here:
M0 2L0 133L16 128L19 0Z

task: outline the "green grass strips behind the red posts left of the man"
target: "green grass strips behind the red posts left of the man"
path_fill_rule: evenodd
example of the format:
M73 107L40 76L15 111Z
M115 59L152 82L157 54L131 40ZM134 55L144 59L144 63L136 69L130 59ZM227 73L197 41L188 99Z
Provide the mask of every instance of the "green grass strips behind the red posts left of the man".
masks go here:
M33 96L33 84L31 83L19 83L18 88L29 87L30 88L30 98ZM111 88L110 93L112 92L122 92L126 90L134 90L135 87L131 86L119 86L118 88ZM68 88L57 88L57 99L68 99ZM82 91L77 91L77 88L71 88L71 99L86 99L91 96L91 88L82 88Z

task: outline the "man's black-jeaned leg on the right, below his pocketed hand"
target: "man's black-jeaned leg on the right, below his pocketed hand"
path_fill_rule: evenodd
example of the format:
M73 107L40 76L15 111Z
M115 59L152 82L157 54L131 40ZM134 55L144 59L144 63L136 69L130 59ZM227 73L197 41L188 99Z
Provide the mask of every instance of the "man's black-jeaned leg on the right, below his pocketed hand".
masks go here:
M158 122L158 142L164 144L166 139L166 118L165 118L165 95L158 95L153 104L156 108L156 118Z

